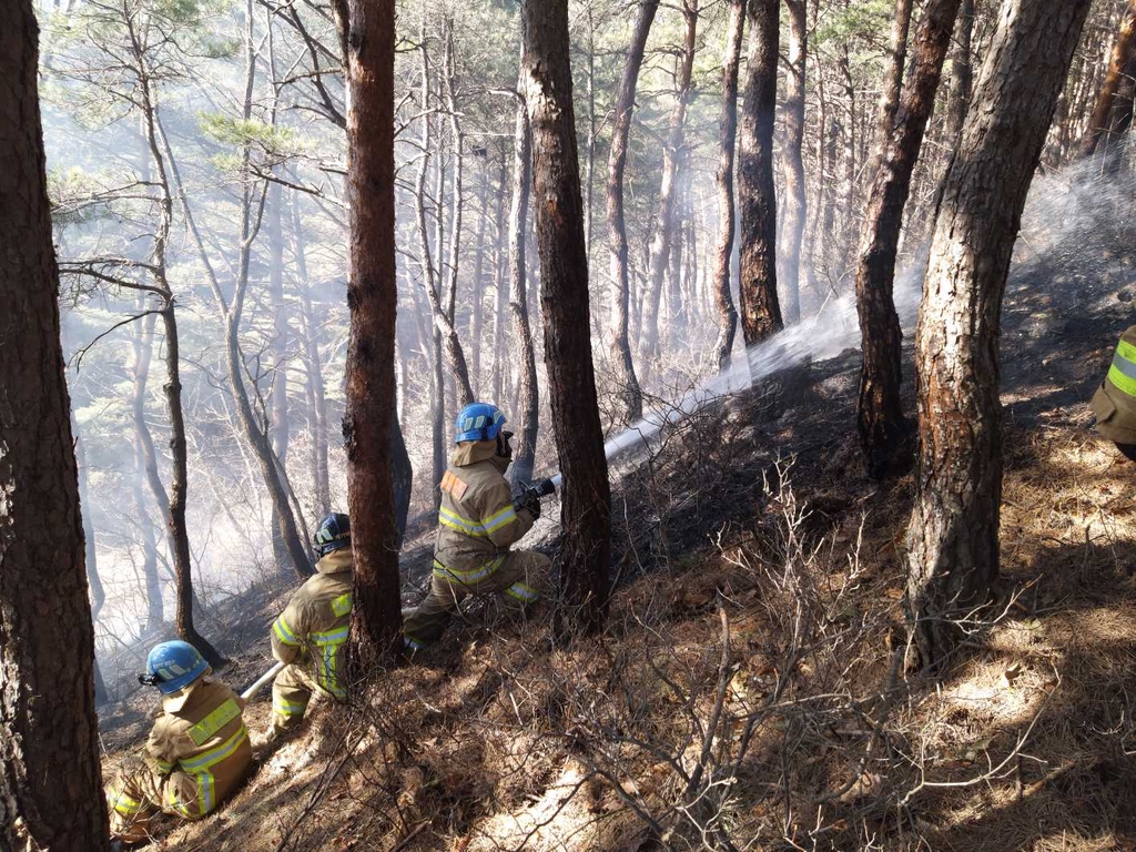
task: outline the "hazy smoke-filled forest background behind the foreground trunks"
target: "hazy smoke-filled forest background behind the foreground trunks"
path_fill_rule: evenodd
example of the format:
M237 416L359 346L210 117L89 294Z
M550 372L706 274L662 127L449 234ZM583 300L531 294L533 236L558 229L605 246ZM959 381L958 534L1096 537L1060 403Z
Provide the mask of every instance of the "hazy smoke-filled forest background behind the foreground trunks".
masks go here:
M624 396L633 390L625 364L649 400L674 398L676 389L715 374L735 350L742 351L726 332L733 306L752 303L738 301L738 272L730 275L732 248L736 251L740 241L732 245L720 241L726 224L734 226L742 211L741 187L730 211L716 182L719 164L726 162L719 123L725 106L721 72L729 64L722 60L730 56L730 33L737 33L738 48L744 43L743 22L735 20L744 9L660 3L645 33L627 126L621 193L627 303L620 318L620 287L608 275L613 242L604 227L603 187L610 176L627 50L637 16L650 6L582 0L569 5L568 15L585 239L592 261L593 342L608 341L612 334L618 341L619 326L626 323L626 349L618 348L618 358L607 345L595 350L602 424L609 434L635 412L628 404L633 400ZM768 110L762 120L768 119L770 141L760 152L768 153L763 197L778 194L783 202L776 235L779 257L767 250L766 267L779 273L778 302L785 307L788 332L795 327L794 292L801 325L815 321L822 304L827 303L829 317L837 306L844 310L847 302L842 300L854 277L854 249L870 214L877 95L891 61L885 34L893 9L875 3L857 11L853 6L810 0L786 9L779 48L770 56L784 53L793 66L778 62L771 85L765 81ZM961 6L957 33L967 16L968 3ZM971 56L984 56L989 48L997 17L993 7L972 9L967 31ZM1058 107L1044 154L1050 166L1077 153L1099 100L1100 77L1125 5L1099 7ZM344 506L345 461L337 435L346 346L346 107L340 35L316 7L239 2L204 9L187 3L177 7L183 17L167 25L152 3L132 0L125 8L145 22L147 32L172 25L179 35L178 44L161 42L164 61L150 75L153 109L168 140L167 145L159 136L154 154L144 123L139 123L144 110L132 100L140 98L136 81L117 78L92 61L100 40L108 37L92 25L98 8L81 5L45 18L45 52L51 61L43 69L44 110L57 240L68 273L64 320L68 354L123 319L162 308L160 294L143 291L140 303L139 291L122 285L153 281L150 254L165 227L160 191L153 186L161 182L159 157L176 164L187 202L183 203L172 174L167 176L174 204L165 240L165 275L181 335L178 381L185 420L184 551L161 532L168 527L167 507L174 493L174 458L168 450L173 434L164 396L174 337L165 316L154 314L123 326L84 351L82 360L72 359L69 378L87 454L95 556L107 590L100 635L108 648L108 630L130 643L161 629L162 618L174 611L169 577L175 571L195 580L200 605L194 609L208 615L224 595L279 570L268 535L273 515L283 517L283 508L291 507L303 538L304 525L310 528L328 509ZM540 312L533 310L546 284L533 260L538 211L510 215L517 195L518 105L512 91L518 80L519 10L493 3L408 2L400 3L396 12L396 35L404 48L395 59L394 81L396 373L406 448L415 473L412 493L407 494L412 518L434 504L440 475L434 471L444 465L450 420L467 395L492 396L506 408L510 427L526 435L518 461L532 448L533 475L554 467L556 446L548 428L552 423L548 353ZM807 37L801 37L802 16ZM917 16L912 30L921 19ZM692 39L687 89L683 83ZM959 35L955 41L961 41ZM762 44L759 40L757 47ZM178 48L192 52L192 62ZM753 68L746 58L740 66L744 83ZM937 108L910 174L896 249L899 268L908 266L928 236L935 192L957 135L952 128L959 126L952 116L966 101L959 92L969 86L967 68L960 55L952 55L932 99ZM1121 107L1124 81L1112 99ZM679 123L676 117L684 103ZM803 186L794 183L799 122ZM680 143L675 143L678 127ZM117 156L107 157L105 151ZM670 217L667 262L660 243L652 264L668 158L676 175L669 203L677 212ZM726 162L725 169L722 178L733 177L737 162L733 167ZM599 192L593 191L595 184ZM792 247L799 226L794 216L802 199L794 289ZM264 222L257 228L261 203ZM538 203L534 200L533 207ZM758 219L768 219L768 214ZM513 264L525 251L521 292ZM128 262L112 268L92 264L108 257ZM749 259L743 266L752 269ZM235 323L226 320L216 298L210 267L224 303L233 306L244 287L245 303ZM746 276L757 281L749 272ZM772 272L766 279L771 278ZM762 292L774 295L768 285ZM532 360L518 321L521 308L528 308ZM680 332L673 318L680 320ZM454 344L466 365L465 378ZM252 442L245 427L249 419L240 416L240 386L251 411ZM644 408L650 410L650 402ZM279 428L285 420L286 453ZM123 445L124 434L132 435L132 446ZM256 434L268 438L268 467ZM518 463L518 478L527 476L525 467ZM273 470L284 486L283 500L273 499ZM165 501L153 487L156 481L169 490ZM272 509L274 502L281 511Z

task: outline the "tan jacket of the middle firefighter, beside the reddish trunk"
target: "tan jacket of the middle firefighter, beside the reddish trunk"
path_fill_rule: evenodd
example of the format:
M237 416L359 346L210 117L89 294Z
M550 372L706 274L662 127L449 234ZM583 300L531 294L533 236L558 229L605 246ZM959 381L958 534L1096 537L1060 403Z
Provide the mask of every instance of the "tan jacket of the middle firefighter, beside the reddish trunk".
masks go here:
M320 692L344 701L340 673L351 626L351 549L333 550L316 563L316 571L273 624L273 657L302 666Z

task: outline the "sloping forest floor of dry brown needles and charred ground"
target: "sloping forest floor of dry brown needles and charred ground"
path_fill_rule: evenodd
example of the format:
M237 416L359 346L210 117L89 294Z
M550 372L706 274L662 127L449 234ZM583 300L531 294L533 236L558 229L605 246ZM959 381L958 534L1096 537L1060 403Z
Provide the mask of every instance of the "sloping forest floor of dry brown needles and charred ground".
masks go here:
M1136 267L1100 251L1092 274L1016 265L1002 577L939 679L899 665L912 477L866 478L846 352L617 468L602 638L554 648L554 602L523 624L474 608L274 749L262 695L254 776L158 847L1136 849L1136 467L1087 406L1136 321ZM428 544L408 546L410 576ZM286 595L245 604L234 635L260 640L226 680L267 668ZM142 742L144 700L105 720L108 777Z

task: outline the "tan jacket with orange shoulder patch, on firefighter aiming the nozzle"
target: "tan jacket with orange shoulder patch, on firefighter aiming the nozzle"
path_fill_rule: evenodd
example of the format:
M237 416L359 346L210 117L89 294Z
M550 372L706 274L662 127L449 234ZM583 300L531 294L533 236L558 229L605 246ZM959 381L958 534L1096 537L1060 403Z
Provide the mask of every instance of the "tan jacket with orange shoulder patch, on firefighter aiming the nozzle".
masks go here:
M509 545L533 527L527 509L513 509L504 471L509 460L496 456L495 441L458 445L442 477L434 575L470 585L492 575Z

